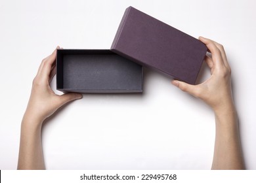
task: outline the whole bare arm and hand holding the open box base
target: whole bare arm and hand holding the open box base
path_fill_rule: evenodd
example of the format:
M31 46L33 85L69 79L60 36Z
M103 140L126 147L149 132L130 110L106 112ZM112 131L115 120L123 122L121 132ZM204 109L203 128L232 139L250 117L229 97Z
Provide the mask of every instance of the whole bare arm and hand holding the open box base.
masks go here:
M49 83L56 73L56 50L43 59L33 80L28 107L22 119L17 169L45 169L41 145L43 121L65 103L81 99L79 93L56 95Z

